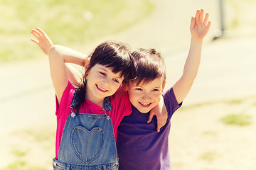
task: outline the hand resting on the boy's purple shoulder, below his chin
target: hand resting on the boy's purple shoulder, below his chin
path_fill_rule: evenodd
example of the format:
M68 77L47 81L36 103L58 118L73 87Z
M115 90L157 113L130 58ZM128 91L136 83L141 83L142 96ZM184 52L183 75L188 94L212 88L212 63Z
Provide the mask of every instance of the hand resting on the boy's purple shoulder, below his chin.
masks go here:
M160 129L166 124L166 120L168 118L168 113L166 110L166 106L164 104L164 98L161 96L161 100L159 104L152 108L150 113L149 113L149 119L147 120L147 123L150 123L152 118L156 115L157 119L157 132L160 132Z

